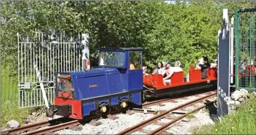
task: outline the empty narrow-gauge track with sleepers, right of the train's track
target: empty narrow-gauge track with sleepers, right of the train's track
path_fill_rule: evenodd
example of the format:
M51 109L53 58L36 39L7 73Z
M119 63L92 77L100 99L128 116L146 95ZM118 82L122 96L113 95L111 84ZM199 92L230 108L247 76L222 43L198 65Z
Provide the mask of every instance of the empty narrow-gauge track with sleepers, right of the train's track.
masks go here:
M194 99L193 101L187 102L185 104L181 104L178 107L175 107L173 109L169 109L165 112L161 112L158 115L155 115L155 117L152 117L150 119L147 119L145 121L140 122L139 124L132 126L128 129L125 129L124 131L121 131L118 134L132 134L135 131L143 131L145 133L148 134L166 134L166 130L170 128L170 126L173 126L175 124L175 122L181 121L181 119L183 119L184 117L186 117L188 114L193 113L199 109L202 109L203 107L206 107L207 104L202 104L200 105L200 107L195 107L195 109L192 109L188 112L178 112L179 114L181 114L178 117L173 117L173 112L175 111L180 111L181 109L185 109L187 107L193 107L194 104L197 103L202 103L205 99L210 99L211 97L215 97L217 95L216 92L214 93L210 93L208 92L208 95L204 96L204 97L199 97L198 99ZM170 119L170 121L168 123L159 123L157 122L160 119L164 119L164 118L168 118ZM160 127L158 127L158 129L155 129L153 131L145 131L143 130L143 128L145 126L148 126L150 124L157 124L160 125ZM172 125L173 124L173 125Z

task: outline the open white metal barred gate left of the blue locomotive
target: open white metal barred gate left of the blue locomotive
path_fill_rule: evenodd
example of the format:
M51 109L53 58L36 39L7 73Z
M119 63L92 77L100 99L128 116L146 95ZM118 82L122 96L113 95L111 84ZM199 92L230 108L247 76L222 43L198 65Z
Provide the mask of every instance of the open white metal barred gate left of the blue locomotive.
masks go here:
M56 72L81 70L83 44L81 36L68 38L64 33L35 32L18 36L19 107L39 107L45 103L40 83L48 102L53 104ZM39 82L36 75L41 75Z

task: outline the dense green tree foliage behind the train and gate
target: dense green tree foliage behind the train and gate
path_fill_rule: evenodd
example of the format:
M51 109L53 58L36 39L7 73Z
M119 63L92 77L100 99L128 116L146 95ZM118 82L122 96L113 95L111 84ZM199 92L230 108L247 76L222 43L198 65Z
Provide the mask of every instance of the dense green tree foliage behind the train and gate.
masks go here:
M65 31L70 36L89 33L93 67L98 63L98 47L142 47L143 65L152 69L158 61L170 60L173 65L180 60L186 74L198 58L217 58L222 9L234 13L235 9L254 7L254 2L1 1L1 6L1 69L8 70L2 72L4 77L1 75L1 96L10 97L1 98L1 103L16 104L18 99L11 97L18 94L17 90L6 85L16 85L17 32L29 35L39 29ZM5 118L1 124L10 119L16 117Z

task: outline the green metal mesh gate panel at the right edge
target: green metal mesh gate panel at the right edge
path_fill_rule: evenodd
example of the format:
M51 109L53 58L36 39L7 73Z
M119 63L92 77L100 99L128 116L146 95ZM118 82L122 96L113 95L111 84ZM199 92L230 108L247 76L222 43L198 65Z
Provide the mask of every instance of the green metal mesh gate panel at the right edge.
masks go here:
M235 11L235 85L256 90L256 9Z

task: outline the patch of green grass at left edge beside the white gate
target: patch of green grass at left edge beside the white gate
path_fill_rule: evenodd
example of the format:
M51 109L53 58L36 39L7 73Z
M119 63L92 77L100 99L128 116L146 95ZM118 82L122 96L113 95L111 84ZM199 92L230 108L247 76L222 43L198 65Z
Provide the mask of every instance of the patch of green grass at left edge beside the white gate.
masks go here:
M19 109L18 77L9 77L8 68L1 68L1 127L6 127L6 122L14 119L23 123L31 109Z

